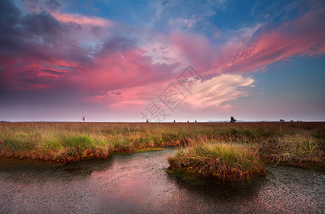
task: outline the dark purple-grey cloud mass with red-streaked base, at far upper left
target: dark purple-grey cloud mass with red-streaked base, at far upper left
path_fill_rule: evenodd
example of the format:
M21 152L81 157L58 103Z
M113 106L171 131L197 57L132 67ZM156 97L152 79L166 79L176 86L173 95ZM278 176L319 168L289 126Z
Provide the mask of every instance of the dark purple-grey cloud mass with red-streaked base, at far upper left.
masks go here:
M10 1L1 4L1 86L6 90L61 87L76 68L91 62L91 51L69 36L72 30L51 14L21 16Z

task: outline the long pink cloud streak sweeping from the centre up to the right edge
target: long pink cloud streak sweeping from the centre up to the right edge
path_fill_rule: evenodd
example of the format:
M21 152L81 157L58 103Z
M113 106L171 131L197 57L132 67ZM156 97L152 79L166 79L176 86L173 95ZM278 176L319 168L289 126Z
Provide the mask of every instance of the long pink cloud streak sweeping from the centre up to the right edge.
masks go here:
M212 45L199 34L175 33L169 36L169 41L171 46L177 47L181 61L190 63L204 74L251 73L292 56L324 54L322 13L324 9L309 11L276 28L257 24L251 29L232 31L235 36L229 36L222 45Z

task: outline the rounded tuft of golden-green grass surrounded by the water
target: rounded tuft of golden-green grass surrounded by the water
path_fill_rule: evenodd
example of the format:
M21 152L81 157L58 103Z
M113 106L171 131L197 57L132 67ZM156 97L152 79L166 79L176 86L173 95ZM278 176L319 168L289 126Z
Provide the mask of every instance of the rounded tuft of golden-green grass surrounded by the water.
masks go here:
M257 150L235 143L202 143L169 157L169 168L205 178L244 181L265 175Z

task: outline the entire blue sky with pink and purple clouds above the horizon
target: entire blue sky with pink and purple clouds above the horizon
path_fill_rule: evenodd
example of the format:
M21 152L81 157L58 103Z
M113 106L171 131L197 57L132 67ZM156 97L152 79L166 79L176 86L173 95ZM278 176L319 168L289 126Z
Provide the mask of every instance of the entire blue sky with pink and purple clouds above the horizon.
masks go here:
M325 1L0 1L0 121L325 121Z

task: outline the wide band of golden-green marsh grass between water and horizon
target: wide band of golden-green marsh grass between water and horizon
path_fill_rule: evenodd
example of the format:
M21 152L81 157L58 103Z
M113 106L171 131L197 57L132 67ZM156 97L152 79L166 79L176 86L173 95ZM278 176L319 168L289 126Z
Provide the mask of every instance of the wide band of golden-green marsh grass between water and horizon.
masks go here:
M202 141L256 145L274 163L298 157L324 161L325 123L0 123L2 156L44 161L107 158ZM308 145L299 144L305 141Z

